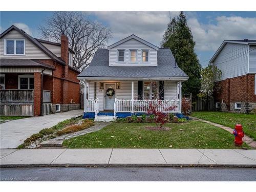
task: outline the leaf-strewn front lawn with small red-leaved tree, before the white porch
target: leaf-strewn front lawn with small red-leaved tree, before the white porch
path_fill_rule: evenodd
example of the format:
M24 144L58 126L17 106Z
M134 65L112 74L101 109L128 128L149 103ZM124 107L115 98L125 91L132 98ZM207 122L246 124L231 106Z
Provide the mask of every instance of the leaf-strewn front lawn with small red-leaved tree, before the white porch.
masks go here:
M69 148L236 148L233 135L200 121L167 123L168 131L151 131L155 123L113 122L94 133L65 140ZM172 145L172 146L171 146ZM171 147L170 147L171 146ZM243 144L243 147L248 147Z

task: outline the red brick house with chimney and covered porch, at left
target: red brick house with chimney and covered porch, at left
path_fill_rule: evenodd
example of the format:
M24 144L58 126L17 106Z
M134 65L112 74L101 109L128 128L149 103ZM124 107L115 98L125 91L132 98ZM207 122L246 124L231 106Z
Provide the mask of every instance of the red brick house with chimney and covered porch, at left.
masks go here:
M73 68L66 35L58 44L11 26L0 38L0 115L80 109L79 71Z

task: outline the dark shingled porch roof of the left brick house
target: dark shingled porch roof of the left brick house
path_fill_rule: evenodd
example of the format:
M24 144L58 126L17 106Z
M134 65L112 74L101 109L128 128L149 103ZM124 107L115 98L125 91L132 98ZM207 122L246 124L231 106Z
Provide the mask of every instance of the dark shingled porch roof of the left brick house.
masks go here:
M41 67L54 70L54 66L31 59L0 59L0 67Z

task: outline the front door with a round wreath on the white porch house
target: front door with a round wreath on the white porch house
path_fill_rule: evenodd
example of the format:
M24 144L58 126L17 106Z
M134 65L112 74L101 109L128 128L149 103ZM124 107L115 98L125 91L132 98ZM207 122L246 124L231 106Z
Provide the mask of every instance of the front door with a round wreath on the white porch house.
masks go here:
M115 83L105 84L105 110L114 110Z

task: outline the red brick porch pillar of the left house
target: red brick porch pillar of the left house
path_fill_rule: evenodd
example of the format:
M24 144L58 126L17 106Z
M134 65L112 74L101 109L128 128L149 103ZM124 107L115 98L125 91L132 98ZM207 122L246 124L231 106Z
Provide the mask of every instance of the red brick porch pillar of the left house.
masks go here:
M41 74L34 73L34 116L41 113Z

